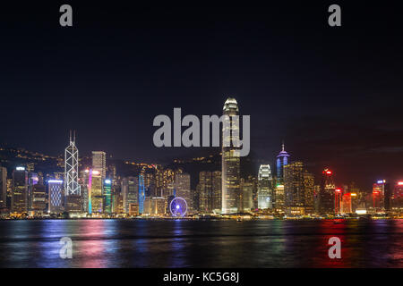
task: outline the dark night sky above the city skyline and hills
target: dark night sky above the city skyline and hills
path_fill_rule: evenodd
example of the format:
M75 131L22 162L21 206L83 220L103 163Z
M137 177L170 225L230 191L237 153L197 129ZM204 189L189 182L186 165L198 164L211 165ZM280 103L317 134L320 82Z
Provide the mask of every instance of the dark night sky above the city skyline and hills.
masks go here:
M153 147L156 115L221 114L231 96L270 164L285 139L314 172L403 179L398 1L52 2L2 4L1 144L57 155L75 129L81 154L158 162L189 150Z

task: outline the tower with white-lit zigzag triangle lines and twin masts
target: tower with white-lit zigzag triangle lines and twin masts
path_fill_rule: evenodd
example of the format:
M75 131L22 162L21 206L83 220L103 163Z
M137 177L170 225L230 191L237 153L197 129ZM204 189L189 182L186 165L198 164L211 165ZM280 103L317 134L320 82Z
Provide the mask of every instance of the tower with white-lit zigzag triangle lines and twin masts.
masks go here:
M70 145L64 151L64 195L80 196L80 185L78 183L78 149L75 146L75 132L70 131Z

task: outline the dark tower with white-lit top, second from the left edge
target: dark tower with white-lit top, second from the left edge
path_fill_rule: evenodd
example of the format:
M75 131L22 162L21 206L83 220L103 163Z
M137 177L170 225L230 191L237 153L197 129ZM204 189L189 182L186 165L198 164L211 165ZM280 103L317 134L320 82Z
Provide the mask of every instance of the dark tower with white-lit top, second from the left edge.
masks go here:
M28 214L28 172L24 167L13 171L12 213Z

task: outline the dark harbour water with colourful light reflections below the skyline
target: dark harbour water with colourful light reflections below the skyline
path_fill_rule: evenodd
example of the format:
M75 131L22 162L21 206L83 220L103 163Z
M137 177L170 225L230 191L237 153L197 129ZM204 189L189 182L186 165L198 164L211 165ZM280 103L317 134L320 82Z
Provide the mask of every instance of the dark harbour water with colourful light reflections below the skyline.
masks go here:
M73 257L59 255L61 238ZM330 259L331 237L341 258ZM403 220L0 221L1 267L403 267Z

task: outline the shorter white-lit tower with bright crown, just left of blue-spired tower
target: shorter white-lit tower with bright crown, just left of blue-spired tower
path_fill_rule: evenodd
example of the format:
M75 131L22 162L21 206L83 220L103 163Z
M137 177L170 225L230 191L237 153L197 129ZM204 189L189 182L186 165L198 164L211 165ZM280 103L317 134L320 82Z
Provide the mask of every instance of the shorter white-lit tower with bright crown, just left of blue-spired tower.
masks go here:
M272 207L272 180L269 164L261 164L258 173L258 208Z

